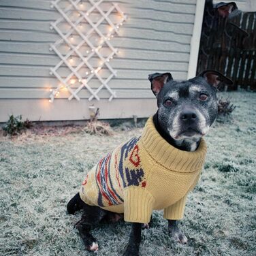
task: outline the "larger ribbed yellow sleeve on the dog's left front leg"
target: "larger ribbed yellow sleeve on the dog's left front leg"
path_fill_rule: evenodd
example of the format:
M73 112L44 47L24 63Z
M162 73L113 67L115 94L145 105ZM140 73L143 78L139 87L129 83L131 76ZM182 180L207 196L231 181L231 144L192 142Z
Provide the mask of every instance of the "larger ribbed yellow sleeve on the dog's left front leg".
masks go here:
M149 223L155 199L140 187L127 187L124 190L125 221Z

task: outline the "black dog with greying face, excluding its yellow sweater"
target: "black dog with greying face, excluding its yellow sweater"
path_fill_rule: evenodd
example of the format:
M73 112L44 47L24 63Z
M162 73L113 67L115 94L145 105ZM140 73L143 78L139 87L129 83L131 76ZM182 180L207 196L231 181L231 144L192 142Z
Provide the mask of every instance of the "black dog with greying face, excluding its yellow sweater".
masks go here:
M156 132L165 140L165 144L167 142L167 146L170 145L170 147L178 148L183 152L197 151L200 144L202 144L202 136L208 132L217 117L217 86L220 82L232 84L231 80L217 71L204 71L199 76L182 82L174 81L170 73L151 74L148 79L151 82L151 89L157 97L158 110L153 116L153 125L155 125ZM134 150L135 145L132 144L131 146L129 144L129 152ZM172 158L172 155L170 155L170 158ZM102 160L99 165L101 164ZM119 165L119 168L123 167ZM135 172L133 174L135 175ZM97 178L104 179L101 176L98 174ZM139 177L138 182L144 187L145 184L142 181L142 178ZM108 180L104 182L108 182ZM86 184L86 180L84 184ZM135 183L131 185L135 185ZM99 206L88 204L87 201L85 203L80 195L81 192L69 201L67 211L74 214L77 210L83 209L82 219L76 227L86 249L97 251L99 246L90 234L91 229L106 217L112 220L118 219L122 211L116 211L118 212L116 214L114 210L110 212L104 209L105 207L99 207L102 206L102 198L100 197L97 201ZM100 196L102 197L102 195ZM139 255L141 230L142 223L132 223L131 235L124 255ZM176 219L168 219L168 230L170 235L178 242L187 243L187 237L178 229Z

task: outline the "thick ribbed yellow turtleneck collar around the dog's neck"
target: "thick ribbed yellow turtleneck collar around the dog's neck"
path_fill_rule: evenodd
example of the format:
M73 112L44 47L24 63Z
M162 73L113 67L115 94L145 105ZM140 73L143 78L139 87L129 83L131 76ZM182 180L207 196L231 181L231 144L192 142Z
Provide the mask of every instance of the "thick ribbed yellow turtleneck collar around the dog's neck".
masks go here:
M204 165L207 147L203 138L197 150L193 152L175 148L161 137L155 128L153 117L148 118L141 140L150 157L168 170L195 172L201 170Z

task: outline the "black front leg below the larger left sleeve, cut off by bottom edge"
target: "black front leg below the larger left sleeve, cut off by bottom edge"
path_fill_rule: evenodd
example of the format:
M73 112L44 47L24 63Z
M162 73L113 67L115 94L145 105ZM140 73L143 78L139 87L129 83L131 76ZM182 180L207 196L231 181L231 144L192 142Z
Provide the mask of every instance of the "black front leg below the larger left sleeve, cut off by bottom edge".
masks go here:
M127 249L123 256L138 256L140 253L140 241L142 240L142 224L131 223L131 234Z

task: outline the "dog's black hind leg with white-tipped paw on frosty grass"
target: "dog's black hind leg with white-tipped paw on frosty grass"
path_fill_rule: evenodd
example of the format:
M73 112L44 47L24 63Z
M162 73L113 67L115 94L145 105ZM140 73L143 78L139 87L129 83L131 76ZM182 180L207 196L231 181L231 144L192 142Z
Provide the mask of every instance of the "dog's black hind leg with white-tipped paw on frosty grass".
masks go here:
M103 210L97 206L89 206L84 204L82 218L76 223L76 228L79 231L82 242L88 251L98 251L99 245L97 240L90 234L91 229L103 219L107 214L106 210Z

